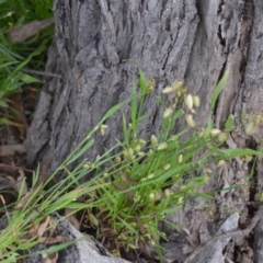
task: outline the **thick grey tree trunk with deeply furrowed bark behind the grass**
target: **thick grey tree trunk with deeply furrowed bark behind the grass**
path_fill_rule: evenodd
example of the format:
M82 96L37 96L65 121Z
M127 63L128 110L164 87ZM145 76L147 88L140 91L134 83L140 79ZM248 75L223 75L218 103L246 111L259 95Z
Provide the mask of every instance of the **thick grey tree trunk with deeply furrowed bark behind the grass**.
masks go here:
M211 92L229 70L215 110L218 128L229 114L240 124L242 113L251 117L261 112L262 0L55 0L54 8L56 35L46 70L62 78L46 78L27 134L28 164L53 157L49 169L57 168L108 108L129 98L136 64L156 79L146 102L152 114L140 130L142 137L160 130L162 110L155 96L175 79L201 96L199 114L206 116ZM121 114L107 125L105 136L98 133L95 146L87 152L89 160L122 137ZM248 147L256 146L262 135L258 130L248 137L240 129L232 138L237 146ZM226 184L226 176L229 185L244 183L248 171L228 168L221 176L218 186ZM250 188L225 197L221 205L243 210ZM228 214L220 211L218 220ZM178 215L173 220L180 216ZM181 221L191 225L193 217L188 218ZM207 213L194 214L193 231L207 218Z

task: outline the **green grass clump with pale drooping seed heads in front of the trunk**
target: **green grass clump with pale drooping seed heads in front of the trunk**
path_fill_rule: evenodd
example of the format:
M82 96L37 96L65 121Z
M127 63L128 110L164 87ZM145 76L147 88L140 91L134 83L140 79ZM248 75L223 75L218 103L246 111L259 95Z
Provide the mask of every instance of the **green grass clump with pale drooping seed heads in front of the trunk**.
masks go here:
M226 78L219 85L224 85ZM159 230L159 224L170 224L167 216L181 209L187 198L214 198L209 193L197 191L214 174L209 164L220 164L242 156L259 156L251 149L226 148L225 141L231 130L229 119L225 130L214 128L211 115L208 125L199 127L194 121L199 99L187 93L181 81L164 88L158 98L163 107L160 135L140 138L140 124L147 116L144 102L153 85L155 81L148 81L139 70L139 90L134 85L132 99L112 107L41 185L37 185L39 172L36 172L31 190L25 195L21 192L11 214L10 207L2 210L9 224L0 235L1 261L15 262L24 258L22 250L28 255L30 249L42 241L43 233L32 229L39 229L52 213L65 208L69 208L71 214L84 214L90 227L95 229L96 238L102 242L110 241L110 249L115 254L140 251L144 244L150 244L161 256L159 240L165 239L165 235ZM213 101L219 94L218 87ZM162 100L167 95L172 98L169 105ZM94 160L83 160L82 156L95 144L93 135L101 133L103 136L111 128L105 125L106 119L127 103L130 104L130 115L123 116L123 138ZM185 118L187 126L174 134L173 126L180 117ZM187 139L182 138L188 130L192 135ZM60 172L66 172L67 178L47 187ZM93 178L80 183L87 174L93 174ZM50 227L46 226L47 229ZM61 245L53 245L53 249L39 253L46 255L50 250L61 249Z

